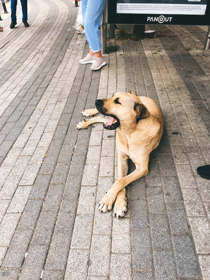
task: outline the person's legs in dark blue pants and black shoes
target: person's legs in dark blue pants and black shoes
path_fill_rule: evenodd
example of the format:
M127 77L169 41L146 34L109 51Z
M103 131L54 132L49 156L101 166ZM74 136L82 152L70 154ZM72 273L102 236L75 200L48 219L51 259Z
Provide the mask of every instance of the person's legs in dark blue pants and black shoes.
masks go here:
M28 20L28 9L27 9L27 0L20 0L21 6L22 6L22 22L25 27L28 27L29 24L27 22ZM16 11L17 11L17 0L11 0L11 24L10 28L15 28L15 24L17 24L17 17L16 17Z

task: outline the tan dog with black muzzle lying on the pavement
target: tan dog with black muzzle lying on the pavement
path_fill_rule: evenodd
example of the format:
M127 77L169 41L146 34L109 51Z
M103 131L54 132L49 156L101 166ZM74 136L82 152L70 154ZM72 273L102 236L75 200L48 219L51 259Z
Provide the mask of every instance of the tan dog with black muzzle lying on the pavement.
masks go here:
M150 152L157 148L163 133L163 117L153 99L136 96L131 90L128 93L116 92L109 99L97 99L95 106L95 109L81 113L87 117L101 113L110 118L107 120L96 116L79 122L76 128L82 129L92 123L103 122L104 128L117 129L118 181L101 199L99 211L110 211L115 202L115 216L122 218L127 211L125 187L148 174ZM129 158L136 169L127 175Z

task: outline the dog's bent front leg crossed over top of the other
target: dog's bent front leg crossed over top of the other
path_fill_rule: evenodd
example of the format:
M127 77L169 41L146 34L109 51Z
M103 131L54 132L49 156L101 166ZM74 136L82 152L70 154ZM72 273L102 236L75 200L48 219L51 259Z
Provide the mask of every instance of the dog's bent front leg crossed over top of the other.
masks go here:
M125 188L125 186L127 186L129 183L147 174L148 174L148 164L147 166L136 165L136 169L131 174L119 179L113 184L111 189L109 189L108 192L101 199L98 210L102 212L111 210L118 192L123 188Z

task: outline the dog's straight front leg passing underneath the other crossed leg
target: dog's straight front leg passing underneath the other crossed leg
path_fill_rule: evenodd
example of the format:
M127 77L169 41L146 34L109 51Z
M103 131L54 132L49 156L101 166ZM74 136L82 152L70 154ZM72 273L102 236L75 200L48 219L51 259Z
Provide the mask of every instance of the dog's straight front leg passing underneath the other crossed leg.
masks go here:
M120 154L120 153L119 153ZM128 173L128 158L126 157L118 157L118 179L125 177ZM127 201L126 201L126 190L123 188L117 194L117 198L114 206L114 213L117 218L125 216L125 212L127 211Z

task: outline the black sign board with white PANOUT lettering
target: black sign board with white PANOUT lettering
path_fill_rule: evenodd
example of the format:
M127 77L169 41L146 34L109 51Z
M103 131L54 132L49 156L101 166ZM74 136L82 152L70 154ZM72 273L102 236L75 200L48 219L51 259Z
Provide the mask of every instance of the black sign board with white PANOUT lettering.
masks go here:
M108 23L210 25L210 0L109 0Z

